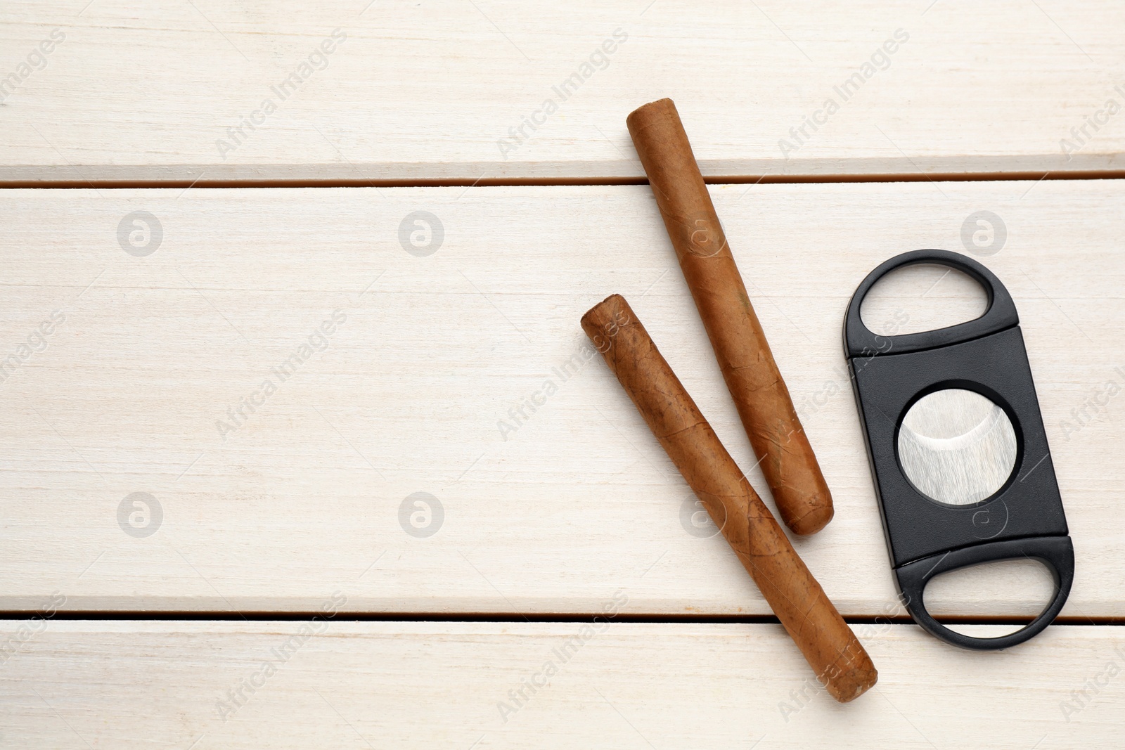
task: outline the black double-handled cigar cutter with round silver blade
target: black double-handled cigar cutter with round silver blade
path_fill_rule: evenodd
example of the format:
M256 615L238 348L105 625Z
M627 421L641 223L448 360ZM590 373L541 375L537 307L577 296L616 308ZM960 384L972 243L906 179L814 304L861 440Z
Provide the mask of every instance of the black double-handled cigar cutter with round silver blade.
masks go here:
M922 333L870 331L860 307L872 286L894 269L918 263L975 279L988 295L984 314ZM903 253L856 289L844 319L844 350L894 578L915 622L975 650L1006 649L1043 631L1070 593L1074 548L1008 290L958 253ZM973 471L964 469L966 462ZM1026 627L973 638L926 611L922 591L934 576L1020 558L1043 562L1055 582L1053 600Z

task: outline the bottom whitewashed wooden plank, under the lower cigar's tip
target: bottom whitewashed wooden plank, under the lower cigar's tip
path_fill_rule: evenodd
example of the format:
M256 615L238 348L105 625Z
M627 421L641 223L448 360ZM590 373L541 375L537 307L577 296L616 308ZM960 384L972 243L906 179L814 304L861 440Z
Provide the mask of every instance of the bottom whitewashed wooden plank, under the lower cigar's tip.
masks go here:
M0 671L2 731L51 748L1026 750L1125 729L1118 627L991 653L914 625L864 642L879 685L840 705L778 625L48 621Z

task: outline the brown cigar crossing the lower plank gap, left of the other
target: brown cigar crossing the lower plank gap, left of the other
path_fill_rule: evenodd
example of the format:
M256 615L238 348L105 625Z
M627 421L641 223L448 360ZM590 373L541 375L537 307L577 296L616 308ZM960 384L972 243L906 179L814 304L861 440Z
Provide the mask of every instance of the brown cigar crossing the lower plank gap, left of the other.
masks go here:
M582 327L722 530L817 678L842 703L863 695L878 678L871 658L629 304L620 295L608 297L582 317Z

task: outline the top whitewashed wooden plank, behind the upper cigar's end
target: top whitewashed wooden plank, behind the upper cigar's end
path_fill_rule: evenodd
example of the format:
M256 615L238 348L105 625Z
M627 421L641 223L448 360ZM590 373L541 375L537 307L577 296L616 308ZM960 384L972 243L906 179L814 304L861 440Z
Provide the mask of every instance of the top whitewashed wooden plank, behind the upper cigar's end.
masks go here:
M665 96L709 175L1123 169L1120 3L820 4L12 0L0 182L636 179Z

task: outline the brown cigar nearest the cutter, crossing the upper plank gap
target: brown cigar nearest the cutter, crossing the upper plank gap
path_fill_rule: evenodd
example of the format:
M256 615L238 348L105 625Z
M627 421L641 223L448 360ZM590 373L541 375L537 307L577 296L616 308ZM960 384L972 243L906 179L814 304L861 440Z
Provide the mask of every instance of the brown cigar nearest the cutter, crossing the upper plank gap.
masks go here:
M832 496L793 409L770 344L670 99L629 115L629 133L785 525L812 534L832 518Z

